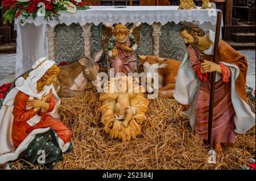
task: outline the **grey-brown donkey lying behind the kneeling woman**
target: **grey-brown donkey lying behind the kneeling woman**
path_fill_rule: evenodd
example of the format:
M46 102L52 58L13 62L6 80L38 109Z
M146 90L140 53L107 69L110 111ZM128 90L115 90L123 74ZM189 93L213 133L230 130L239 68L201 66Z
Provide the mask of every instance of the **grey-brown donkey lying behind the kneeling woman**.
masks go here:
M53 83L57 94L60 97L70 98L79 91L96 87L99 70L97 61L100 60L102 53L103 50L100 50L92 58L84 57L71 64L60 66L57 81ZM22 76L26 79L30 71L26 71L20 77ZM15 81L13 85L15 85Z

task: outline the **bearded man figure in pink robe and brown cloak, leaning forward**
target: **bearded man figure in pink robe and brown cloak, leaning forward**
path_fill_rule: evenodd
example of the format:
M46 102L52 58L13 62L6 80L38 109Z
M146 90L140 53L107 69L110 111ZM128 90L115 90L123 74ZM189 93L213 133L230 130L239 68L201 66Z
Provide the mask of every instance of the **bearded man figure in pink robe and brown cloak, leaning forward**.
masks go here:
M220 40L217 63L213 60L213 31L203 31L197 24L183 24L180 35L187 44L187 53L180 66L174 98L183 105L191 127L200 140L207 140L211 78L216 71L212 141L217 153L222 145L237 145L237 134L255 125L255 113L246 99L246 58ZM236 143L236 144L235 144Z

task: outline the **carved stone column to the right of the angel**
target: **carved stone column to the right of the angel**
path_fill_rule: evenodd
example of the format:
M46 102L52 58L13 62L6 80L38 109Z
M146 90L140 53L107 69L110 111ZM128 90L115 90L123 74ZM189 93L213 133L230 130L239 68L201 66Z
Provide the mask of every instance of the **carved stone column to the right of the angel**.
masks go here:
M152 36L153 36L153 55L159 57L159 52L160 52L160 36L162 35L161 28L162 24L161 23L153 23L152 25L153 31L152 31Z

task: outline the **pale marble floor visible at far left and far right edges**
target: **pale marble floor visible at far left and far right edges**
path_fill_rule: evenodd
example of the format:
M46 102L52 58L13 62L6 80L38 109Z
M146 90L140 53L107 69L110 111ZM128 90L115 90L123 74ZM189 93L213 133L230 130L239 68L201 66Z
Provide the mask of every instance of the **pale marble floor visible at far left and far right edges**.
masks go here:
M248 61L246 84L255 89L255 50L240 50ZM0 85L15 79L16 54L0 54Z

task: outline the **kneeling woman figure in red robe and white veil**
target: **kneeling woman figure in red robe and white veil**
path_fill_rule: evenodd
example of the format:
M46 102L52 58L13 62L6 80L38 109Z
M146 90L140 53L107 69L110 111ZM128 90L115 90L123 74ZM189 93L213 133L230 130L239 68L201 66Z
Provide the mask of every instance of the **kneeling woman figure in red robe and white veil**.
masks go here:
M27 79L16 79L14 89L3 102L0 111L0 163L13 161L20 155L28 158L32 155L29 153L35 150L37 155L37 149L42 148L52 154L52 160L61 157L61 151L72 148L69 143L71 131L56 112L60 99L52 83L60 69L46 58L36 61L32 68L34 70ZM45 148L47 145L55 147Z

